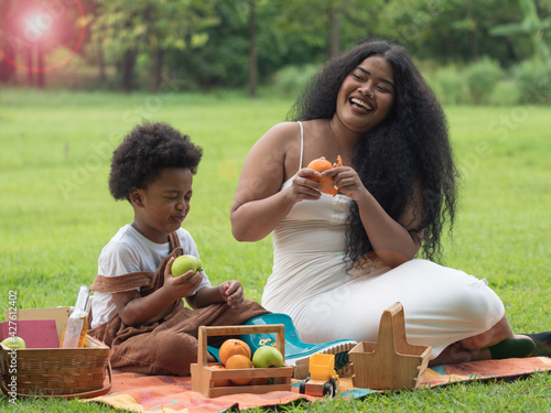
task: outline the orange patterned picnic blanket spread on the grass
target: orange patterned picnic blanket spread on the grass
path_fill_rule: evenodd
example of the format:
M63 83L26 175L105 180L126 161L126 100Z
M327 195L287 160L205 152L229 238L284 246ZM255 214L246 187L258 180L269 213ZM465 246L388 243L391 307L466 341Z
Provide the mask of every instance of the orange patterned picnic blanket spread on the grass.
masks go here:
M551 371L551 358L485 360L439 366L426 369L420 387L433 388L468 380L512 379L531 374L534 371ZM341 379L339 392L341 396L344 398L365 398L375 393L369 389L353 388L350 378ZM298 383L293 385L291 391L266 394L240 393L207 399L191 390L190 377L145 376L115 371L109 394L80 401L106 403L116 409L132 412L214 413L229 409L245 410L256 406L289 404L300 399L306 401L324 400L300 394Z

